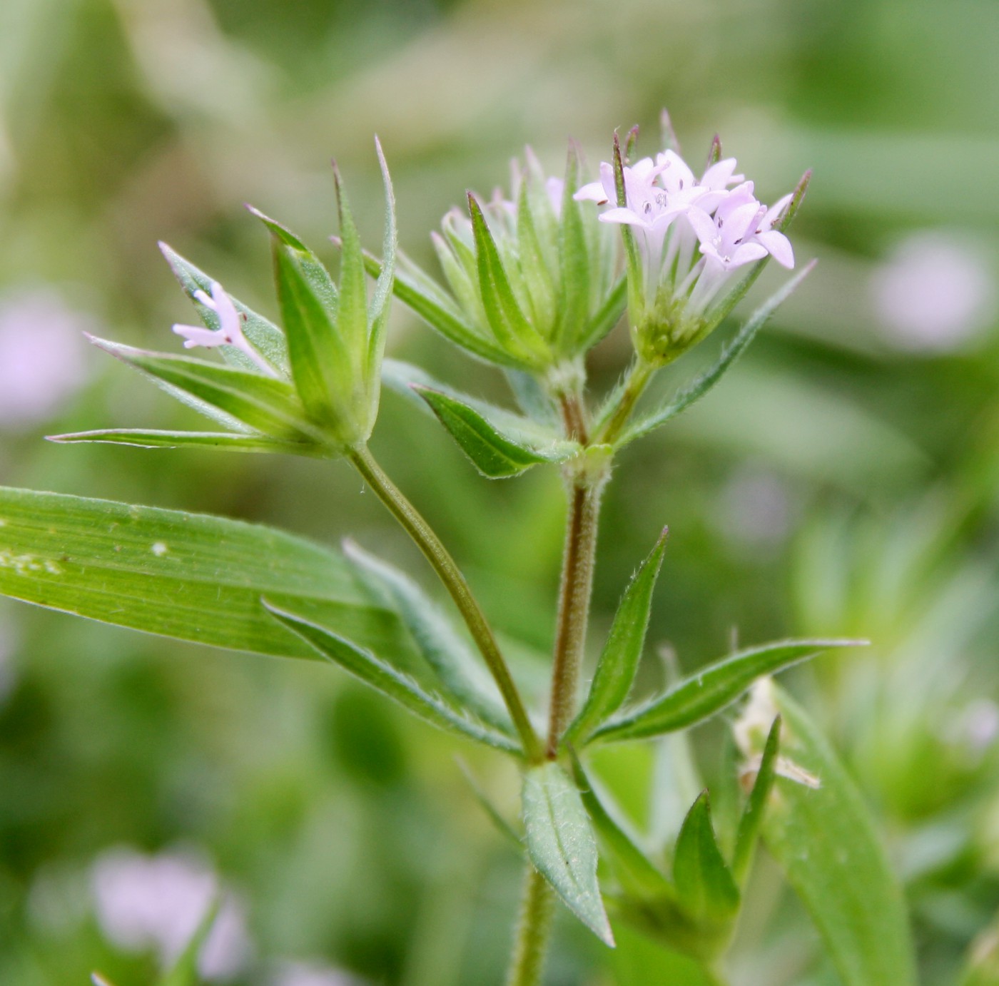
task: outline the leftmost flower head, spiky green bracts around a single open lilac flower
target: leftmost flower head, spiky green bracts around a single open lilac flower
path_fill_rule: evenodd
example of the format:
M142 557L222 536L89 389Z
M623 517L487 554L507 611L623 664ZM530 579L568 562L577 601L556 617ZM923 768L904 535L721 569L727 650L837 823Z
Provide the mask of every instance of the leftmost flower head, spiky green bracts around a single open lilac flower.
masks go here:
M386 195L385 264L370 301L361 241L335 170L342 244L339 286L299 237L250 209L272 236L283 334L163 245L164 256L207 327L176 326L175 332L186 337L187 348L218 346L231 366L95 340L234 434L116 429L60 440L146 448L209 445L311 456L337 456L363 446L378 416L397 241L392 181L377 141L376 147Z

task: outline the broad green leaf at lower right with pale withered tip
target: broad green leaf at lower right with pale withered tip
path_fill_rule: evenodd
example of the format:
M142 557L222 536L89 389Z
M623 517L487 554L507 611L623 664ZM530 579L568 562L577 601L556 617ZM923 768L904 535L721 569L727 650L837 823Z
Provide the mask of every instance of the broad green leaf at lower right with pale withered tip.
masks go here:
M763 820L770 854L811 913L844 986L913 986L905 900L870 812L805 711L779 688L782 754L817 788L778 776Z

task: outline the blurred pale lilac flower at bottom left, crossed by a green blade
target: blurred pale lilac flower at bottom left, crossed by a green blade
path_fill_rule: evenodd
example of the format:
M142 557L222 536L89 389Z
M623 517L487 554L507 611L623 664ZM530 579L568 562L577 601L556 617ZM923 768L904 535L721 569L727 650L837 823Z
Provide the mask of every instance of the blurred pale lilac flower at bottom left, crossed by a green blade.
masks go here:
M203 861L182 853L147 856L109 849L94 863L91 887L101 929L126 951L155 951L164 967L183 952L222 892ZM225 893L198 959L205 979L230 979L253 952L244 909Z

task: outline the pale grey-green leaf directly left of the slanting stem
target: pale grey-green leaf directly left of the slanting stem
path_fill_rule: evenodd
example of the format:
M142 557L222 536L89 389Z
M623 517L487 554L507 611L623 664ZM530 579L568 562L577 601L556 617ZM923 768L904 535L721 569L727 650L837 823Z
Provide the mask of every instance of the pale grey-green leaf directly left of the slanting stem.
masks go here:
M344 542L344 553L357 565L375 596L383 597L388 607L400 614L455 703L512 735L513 726L492 675L437 603L405 572L353 541Z

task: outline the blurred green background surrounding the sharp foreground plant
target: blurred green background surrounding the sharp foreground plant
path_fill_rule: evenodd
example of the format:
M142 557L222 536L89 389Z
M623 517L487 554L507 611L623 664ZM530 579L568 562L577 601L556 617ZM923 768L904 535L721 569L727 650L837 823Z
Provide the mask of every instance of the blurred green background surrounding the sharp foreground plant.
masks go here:
M242 203L322 248L336 156L376 245L375 133L402 245L432 268L429 231L467 188L505 184L525 143L557 172L571 136L595 167L612 129L639 123L652 153L662 106L692 163L719 132L764 201L813 168L792 239L816 272L708 400L621 458L592 641L663 523L650 639L683 667L733 631L872 638L788 680L877 813L923 981L956 982L999 911L997 44L994 0L3 0L0 482L352 533L430 585L342 465L42 441L191 423L80 342L178 351L170 326L191 311L156 241L273 316L267 237ZM506 400L401 306L393 330L392 355ZM592 355L594 388L628 350L618 331ZM543 675L555 473L489 483L391 394L374 448L467 567L519 673ZM709 779L725 732L694 735ZM498 983L519 863L458 753L512 809L498 758L333 669L0 600L0 982L100 968L149 983L157 949L115 930L101 888L158 863L231 888L234 943L207 970L222 981ZM605 769L655 823L651 755L624 748ZM562 922L551 983L684 982L621 937L611 955ZM837 982L765 858L730 972Z

